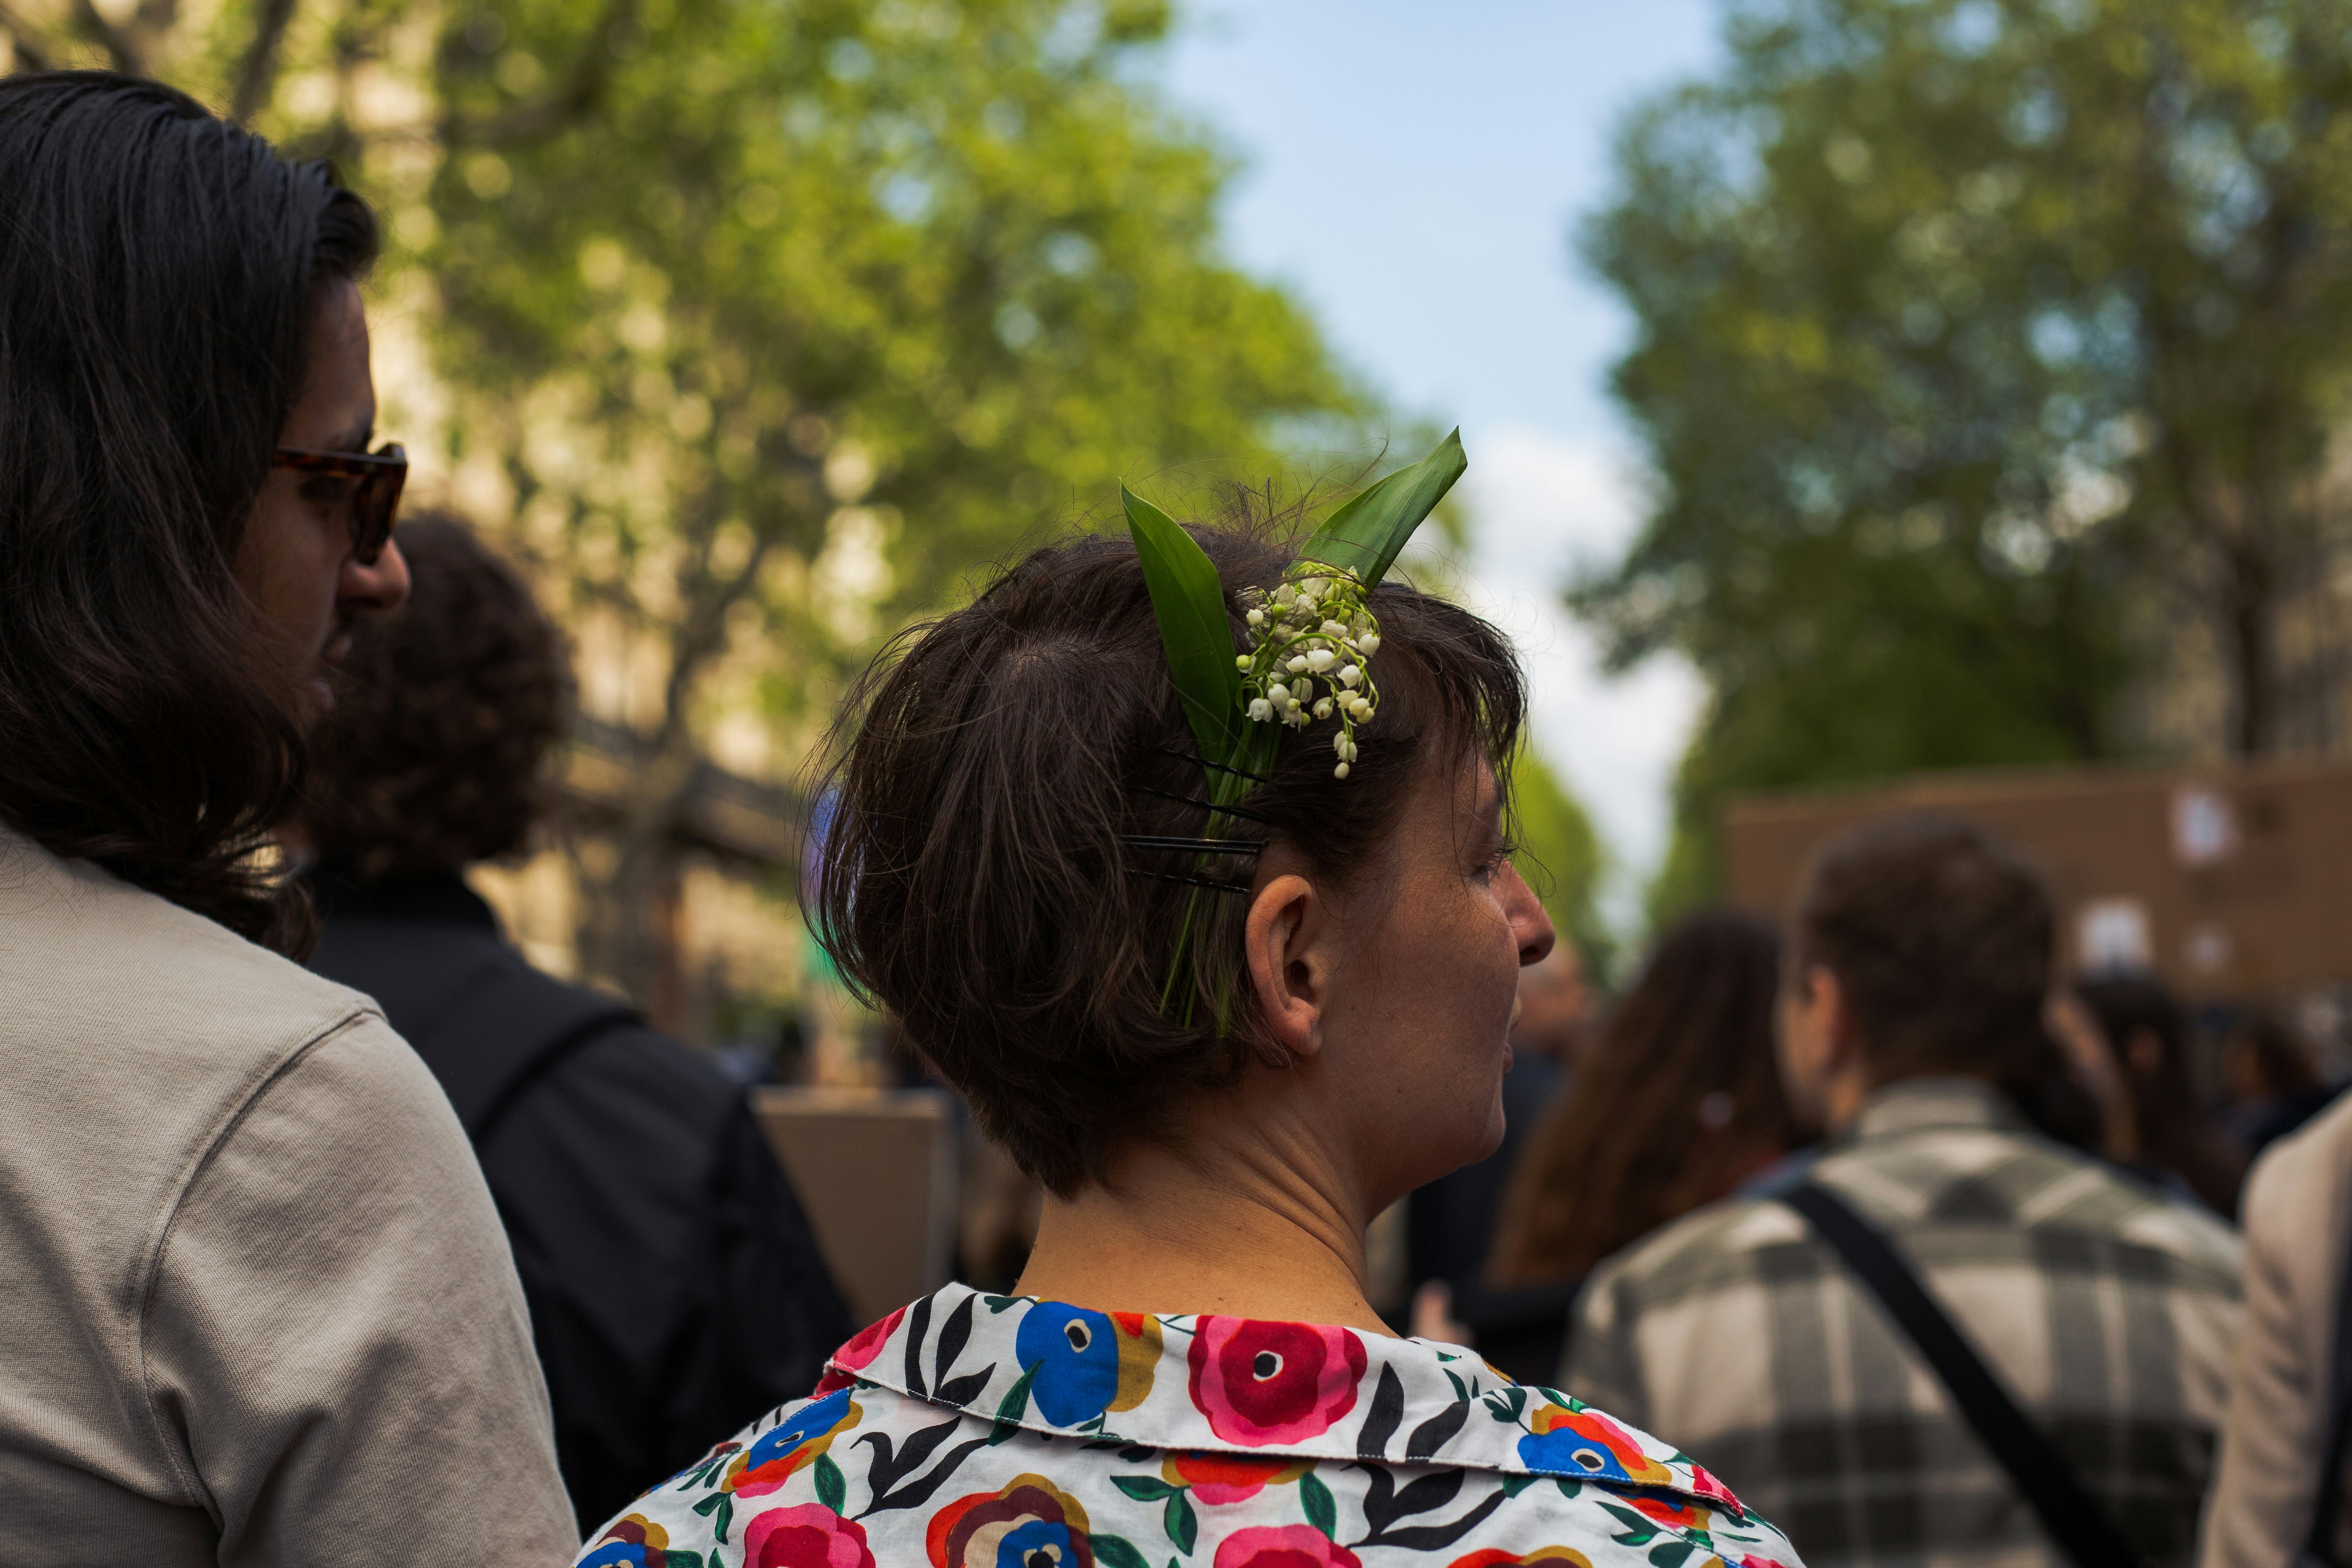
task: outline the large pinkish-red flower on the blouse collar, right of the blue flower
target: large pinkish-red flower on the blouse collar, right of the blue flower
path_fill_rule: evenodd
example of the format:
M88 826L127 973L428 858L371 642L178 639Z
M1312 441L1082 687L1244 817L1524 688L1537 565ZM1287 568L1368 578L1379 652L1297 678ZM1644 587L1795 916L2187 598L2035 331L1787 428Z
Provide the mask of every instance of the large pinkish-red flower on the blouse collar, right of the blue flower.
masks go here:
M1355 1408L1364 1340L1350 1328L1204 1316L1192 1328L1192 1408L1228 1443L1301 1443Z

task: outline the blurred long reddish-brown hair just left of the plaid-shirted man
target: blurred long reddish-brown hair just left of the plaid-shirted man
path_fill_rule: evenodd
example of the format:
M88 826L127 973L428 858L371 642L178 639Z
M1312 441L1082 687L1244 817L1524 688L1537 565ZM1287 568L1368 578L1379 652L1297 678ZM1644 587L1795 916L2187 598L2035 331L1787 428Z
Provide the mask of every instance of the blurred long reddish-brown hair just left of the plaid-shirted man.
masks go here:
M1795 1147L1778 987L1780 938L1750 914L1693 914L1658 940L1512 1171L1494 1284L1576 1279Z

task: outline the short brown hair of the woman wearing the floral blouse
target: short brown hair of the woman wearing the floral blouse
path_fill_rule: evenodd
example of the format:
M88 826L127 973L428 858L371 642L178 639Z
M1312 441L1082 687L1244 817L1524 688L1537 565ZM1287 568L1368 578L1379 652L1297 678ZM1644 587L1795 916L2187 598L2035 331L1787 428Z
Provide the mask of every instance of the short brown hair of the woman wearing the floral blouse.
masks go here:
M1237 635L1235 590L1275 585L1294 559L1270 534L1263 520L1192 529ZM1371 609L1381 717L1362 755L1338 780L1331 719L1287 736L1244 802L1261 820L1211 823L1183 804L1202 771L1183 759L1192 738L1127 538L1028 555L969 609L901 635L851 693L811 792L833 802L807 889L814 926L1054 1192L1098 1180L1188 1095L1284 1060L1247 1001L1216 1020L1221 999L1247 994L1249 900L1200 893L1190 973L1164 994L1195 889L1148 872L1188 858L1122 835L1279 839L1348 886L1432 766L1482 752L1508 792L1524 710L1510 644L1397 583Z

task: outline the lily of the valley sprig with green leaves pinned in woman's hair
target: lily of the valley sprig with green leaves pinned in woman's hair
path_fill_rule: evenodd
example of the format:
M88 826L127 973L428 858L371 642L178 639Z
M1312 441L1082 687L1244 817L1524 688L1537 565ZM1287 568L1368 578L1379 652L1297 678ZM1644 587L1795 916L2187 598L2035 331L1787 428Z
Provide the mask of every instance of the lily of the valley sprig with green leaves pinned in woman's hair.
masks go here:
M1371 679L1371 656L1381 651L1371 592L1468 465L1461 430L1454 430L1437 451L1357 491L1324 517L1282 583L1237 595L1247 654L1235 651L1232 607L1200 541L1157 505L1120 487L1152 618L1160 623L1160 646L1169 656L1169 679L1200 748L1197 804L1211 832L1249 816L1242 802L1272 776L1284 726L1296 733L1317 719L1338 719L1331 736L1338 762L1331 771L1348 778L1357 759L1357 731L1381 710L1381 689ZM1143 865L1129 870L1192 884L1169 978L1160 990L1162 1013L1181 994L1178 1011L1190 1023L1195 987L1183 985L1183 978L1202 926L1202 893L1247 893L1247 882L1214 872L1221 860L1254 858L1263 844L1216 837L1129 839L1129 849L1150 853L1171 853L1176 846L1197 851L1183 872ZM1223 985L1214 1001L1216 1032L1223 1034L1232 1001Z

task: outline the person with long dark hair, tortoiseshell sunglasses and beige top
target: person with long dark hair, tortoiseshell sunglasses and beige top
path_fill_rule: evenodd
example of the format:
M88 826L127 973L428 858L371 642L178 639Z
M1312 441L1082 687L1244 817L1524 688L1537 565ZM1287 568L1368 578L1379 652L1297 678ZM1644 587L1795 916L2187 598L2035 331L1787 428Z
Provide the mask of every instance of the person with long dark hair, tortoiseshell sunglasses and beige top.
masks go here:
M0 80L0 1497L12 1561L576 1540L440 1086L268 835L400 604L369 209L155 82ZM480 1519L428 1493L499 1497Z

